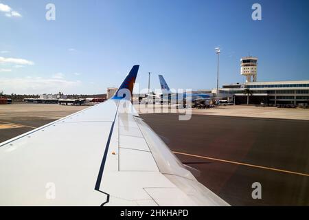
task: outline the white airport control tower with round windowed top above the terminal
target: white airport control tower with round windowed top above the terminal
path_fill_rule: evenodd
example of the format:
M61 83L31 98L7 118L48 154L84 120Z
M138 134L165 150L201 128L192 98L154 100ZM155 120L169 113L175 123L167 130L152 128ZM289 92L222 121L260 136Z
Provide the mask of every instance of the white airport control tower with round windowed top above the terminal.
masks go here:
M240 74L246 76L246 83L256 82L258 74L258 58L247 56L240 59Z

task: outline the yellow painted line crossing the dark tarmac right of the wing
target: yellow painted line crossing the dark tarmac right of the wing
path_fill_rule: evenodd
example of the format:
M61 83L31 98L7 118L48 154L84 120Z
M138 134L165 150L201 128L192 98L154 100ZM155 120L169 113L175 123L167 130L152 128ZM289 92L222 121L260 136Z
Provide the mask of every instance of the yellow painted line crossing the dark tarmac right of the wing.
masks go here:
M226 160L226 159L218 159L218 158L214 158L214 157L205 157L205 156L193 155L193 154L190 154L190 153L182 153L182 152L177 152L177 151L173 151L173 153L180 154L180 155L187 155L187 156L190 156L190 157L211 159L211 160L215 160L215 161L218 161L218 162L224 162L224 163L229 163L229 164L238 164L238 165L242 165L242 166L250 166L250 167L254 167L254 168L262 168L262 169L265 169L265 170L274 170L274 171L277 171L277 172L291 173L291 174L295 174L295 175L301 175L301 176L309 177L309 174L306 174L306 173L297 173L297 172L293 172L293 171L289 171L289 170L282 170L282 169L271 168L271 167L267 167L267 166L244 164L244 163L234 162L234 161L230 161L230 160Z

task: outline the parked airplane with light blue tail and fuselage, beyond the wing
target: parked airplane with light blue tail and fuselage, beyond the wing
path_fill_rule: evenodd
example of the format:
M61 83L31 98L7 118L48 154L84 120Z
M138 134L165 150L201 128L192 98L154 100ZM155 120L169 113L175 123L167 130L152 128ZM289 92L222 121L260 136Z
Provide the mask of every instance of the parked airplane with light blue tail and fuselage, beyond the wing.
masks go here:
M183 103L187 100L191 100L192 104L201 103L201 102L209 102L210 100L217 100L218 97L212 97L210 94L196 94L196 93L172 93L170 91L170 87L165 82L165 79L162 75L159 75L159 81L162 90L162 100L163 102L173 102L176 103Z

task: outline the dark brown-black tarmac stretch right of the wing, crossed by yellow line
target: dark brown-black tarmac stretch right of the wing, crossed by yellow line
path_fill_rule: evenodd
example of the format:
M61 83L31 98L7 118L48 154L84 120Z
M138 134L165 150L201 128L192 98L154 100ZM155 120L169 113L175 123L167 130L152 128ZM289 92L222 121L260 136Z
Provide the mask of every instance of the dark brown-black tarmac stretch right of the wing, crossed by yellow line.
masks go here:
M144 114L198 181L232 206L309 205L309 123L218 115ZM253 199L252 184L262 186Z

